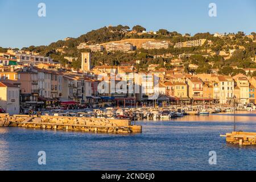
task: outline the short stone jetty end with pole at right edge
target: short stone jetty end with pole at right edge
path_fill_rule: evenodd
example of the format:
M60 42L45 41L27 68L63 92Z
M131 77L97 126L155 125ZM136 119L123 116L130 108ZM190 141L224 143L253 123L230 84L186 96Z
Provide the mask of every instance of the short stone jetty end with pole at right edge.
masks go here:
M226 137L226 142L228 143L241 146L256 145L256 133L253 132L233 131L232 133L220 136Z

